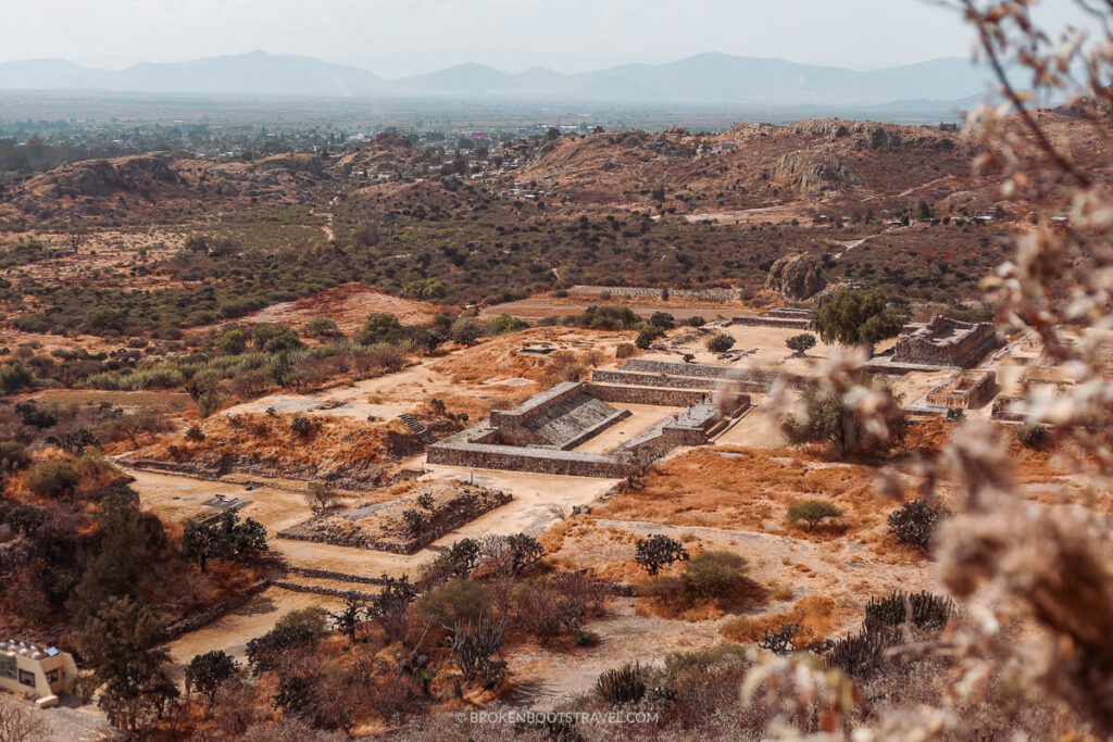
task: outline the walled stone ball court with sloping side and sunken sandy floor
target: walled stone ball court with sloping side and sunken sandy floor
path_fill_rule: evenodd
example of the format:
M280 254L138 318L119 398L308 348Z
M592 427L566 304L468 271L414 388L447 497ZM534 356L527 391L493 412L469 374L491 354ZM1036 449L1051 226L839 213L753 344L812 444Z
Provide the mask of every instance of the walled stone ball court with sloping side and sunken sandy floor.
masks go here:
M609 453L572 451L630 415L609 403L684 407L684 410L663 415L657 424ZM515 409L493 410L486 423L430 446L427 461L476 468L618 478L678 446L707 443L749 404L746 395L711 392L708 386L670 388L603 384L599 379L565 382Z

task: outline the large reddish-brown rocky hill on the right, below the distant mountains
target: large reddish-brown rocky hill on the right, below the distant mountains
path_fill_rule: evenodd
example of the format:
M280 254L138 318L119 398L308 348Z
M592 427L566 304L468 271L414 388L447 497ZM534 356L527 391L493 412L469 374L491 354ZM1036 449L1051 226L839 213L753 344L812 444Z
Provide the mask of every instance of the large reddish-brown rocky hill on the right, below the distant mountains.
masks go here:
M584 202L668 200L688 211L899 194L943 176L968 177L969 155L957 132L820 119L742 123L718 136L672 130L565 138L544 147L521 179Z

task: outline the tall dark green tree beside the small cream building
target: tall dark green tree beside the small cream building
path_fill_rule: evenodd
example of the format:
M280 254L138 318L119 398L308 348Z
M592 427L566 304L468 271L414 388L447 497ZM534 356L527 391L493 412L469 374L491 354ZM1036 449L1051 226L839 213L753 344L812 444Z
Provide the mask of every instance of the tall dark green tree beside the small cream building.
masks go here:
M173 698L162 671L170 652L158 646L161 637L161 622L130 597L108 598L75 633L93 685L101 689L99 705L117 726L135 731L145 713Z

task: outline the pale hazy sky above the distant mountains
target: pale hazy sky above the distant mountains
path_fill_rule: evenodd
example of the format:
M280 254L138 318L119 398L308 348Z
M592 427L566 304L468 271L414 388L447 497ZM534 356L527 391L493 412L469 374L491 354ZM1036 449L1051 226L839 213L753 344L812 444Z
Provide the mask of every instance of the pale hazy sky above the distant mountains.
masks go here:
M1081 22L1072 0L1045 21ZM385 77L462 61L564 72L703 51L874 69L968 56L922 0L0 0L0 61L122 68L263 49Z

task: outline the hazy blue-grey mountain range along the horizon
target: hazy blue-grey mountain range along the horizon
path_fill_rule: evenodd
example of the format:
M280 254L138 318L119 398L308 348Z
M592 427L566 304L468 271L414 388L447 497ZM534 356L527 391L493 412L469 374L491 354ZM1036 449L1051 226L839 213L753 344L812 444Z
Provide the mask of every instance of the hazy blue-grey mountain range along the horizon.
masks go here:
M144 62L126 70L91 69L60 59L0 62L0 89L846 107L908 100L965 102L987 92L989 81L986 71L967 59L935 59L859 72L720 53L578 75L540 67L511 73L484 65L459 65L386 80L356 67L311 57L253 51L188 62Z

